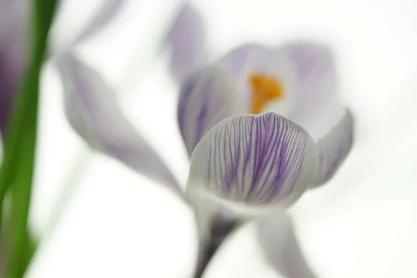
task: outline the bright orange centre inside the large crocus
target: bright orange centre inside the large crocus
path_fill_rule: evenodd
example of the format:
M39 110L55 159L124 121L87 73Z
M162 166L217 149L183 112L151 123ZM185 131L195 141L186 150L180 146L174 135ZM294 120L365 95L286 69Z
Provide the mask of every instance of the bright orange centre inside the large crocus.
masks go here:
M250 85L252 86L252 114L262 112L264 106L270 101L282 99L284 97L284 88L281 82L273 76L266 74L252 74L250 76Z

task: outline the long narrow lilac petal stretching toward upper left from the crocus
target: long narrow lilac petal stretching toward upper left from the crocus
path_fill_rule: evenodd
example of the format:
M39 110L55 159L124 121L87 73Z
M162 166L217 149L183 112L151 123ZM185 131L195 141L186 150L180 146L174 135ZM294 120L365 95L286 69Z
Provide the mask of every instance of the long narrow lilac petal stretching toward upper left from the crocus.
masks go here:
M72 127L91 147L183 195L177 181L152 147L120 111L101 76L74 54L58 60L63 76L65 111Z

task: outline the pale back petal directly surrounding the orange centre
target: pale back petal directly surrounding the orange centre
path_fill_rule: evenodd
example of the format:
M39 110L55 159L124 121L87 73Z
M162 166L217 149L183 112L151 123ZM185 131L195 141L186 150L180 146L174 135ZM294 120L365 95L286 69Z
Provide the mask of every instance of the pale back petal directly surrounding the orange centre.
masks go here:
M236 83L245 101L247 113L253 113L254 88L251 79L254 75L268 76L282 88L282 97L270 101L261 112L272 111L287 115L297 104L297 75L295 68L286 56L259 44L247 44L234 49L220 60L231 80Z

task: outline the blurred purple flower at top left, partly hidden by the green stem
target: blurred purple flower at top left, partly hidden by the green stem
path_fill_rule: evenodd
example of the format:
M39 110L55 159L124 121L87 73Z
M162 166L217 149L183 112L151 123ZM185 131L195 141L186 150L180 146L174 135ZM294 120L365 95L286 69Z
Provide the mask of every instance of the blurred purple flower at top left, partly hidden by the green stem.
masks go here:
M67 47L73 47L99 31L122 3L123 0L106 0L90 24ZM0 130L3 133L28 60L29 34L26 31L30 6L28 0L0 0ZM54 54L60 54L60 50Z

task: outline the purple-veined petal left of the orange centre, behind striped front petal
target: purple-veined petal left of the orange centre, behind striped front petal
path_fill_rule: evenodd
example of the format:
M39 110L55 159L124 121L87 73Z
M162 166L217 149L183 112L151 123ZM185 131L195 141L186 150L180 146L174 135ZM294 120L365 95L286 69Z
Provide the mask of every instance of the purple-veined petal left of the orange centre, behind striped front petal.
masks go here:
M178 122L188 154L215 124L245 113L234 85L218 67L208 67L189 76L179 96Z

